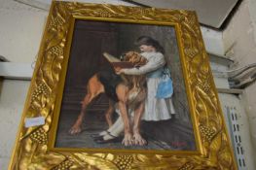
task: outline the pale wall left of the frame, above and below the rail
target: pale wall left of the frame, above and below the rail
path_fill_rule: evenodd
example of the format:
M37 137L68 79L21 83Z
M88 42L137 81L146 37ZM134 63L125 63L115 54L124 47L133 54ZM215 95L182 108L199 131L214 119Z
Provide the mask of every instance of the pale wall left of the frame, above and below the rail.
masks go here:
M48 12L10 0L0 0L0 4L0 54L12 62L32 63ZM10 161L30 82L0 82L0 167L4 170Z

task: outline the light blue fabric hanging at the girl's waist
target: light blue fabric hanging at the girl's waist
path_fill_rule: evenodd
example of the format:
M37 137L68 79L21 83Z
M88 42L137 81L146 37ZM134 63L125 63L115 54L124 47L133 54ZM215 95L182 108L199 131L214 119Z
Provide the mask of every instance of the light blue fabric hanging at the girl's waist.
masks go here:
M169 98L173 94L172 80L169 74L164 74L158 85L156 98Z

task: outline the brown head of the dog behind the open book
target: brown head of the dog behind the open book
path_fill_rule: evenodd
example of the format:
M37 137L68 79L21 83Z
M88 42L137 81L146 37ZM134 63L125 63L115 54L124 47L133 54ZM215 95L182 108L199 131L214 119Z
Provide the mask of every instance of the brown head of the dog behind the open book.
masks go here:
M123 60L131 62L134 67L141 67L148 62L147 58L145 58L136 51L128 51L127 53L125 53L123 56Z

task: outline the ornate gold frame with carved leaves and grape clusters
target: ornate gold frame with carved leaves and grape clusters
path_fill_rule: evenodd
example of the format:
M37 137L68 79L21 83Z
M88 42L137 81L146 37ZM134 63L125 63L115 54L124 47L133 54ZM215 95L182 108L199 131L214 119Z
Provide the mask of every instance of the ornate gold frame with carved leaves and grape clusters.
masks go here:
M67 70L75 19L171 25L193 121L196 152L55 150L57 98ZM43 116L44 125L24 127ZM54 1L39 51L10 169L238 169L195 12Z

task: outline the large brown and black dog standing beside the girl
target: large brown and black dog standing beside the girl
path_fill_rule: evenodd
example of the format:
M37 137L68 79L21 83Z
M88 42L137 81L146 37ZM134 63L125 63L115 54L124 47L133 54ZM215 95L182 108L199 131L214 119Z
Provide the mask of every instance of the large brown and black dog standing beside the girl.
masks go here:
M147 59L140 55L138 52L129 51L124 57L124 61L131 62L134 67L140 67L146 64ZM103 73L104 75L104 73ZM114 85L108 85L111 81L110 78L115 77ZM77 134L81 132L82 121L86 114L87 106L91 100L100 93L107 93L112 96L109 102L109 109L105 113L106 120L109 126L112 125L111 116L114 111L114 103L117 102L121 117L125 125L125 138L123 144L128 145L145 145L146 141L141 137L139 130L139 123L144 111L144 100L146 97L145 76L128 76L128 75L107 75L106 78L101 78L101 74L95 74L89 80L87 85L88 93L86 94L83 102L81 113L69 130L70 134ZM112 87L112 91L109 88ZM114 99L114 100L113 100ZM114 101L114 102L113 102ZM134 111L134 119L132 122L132 130L130 128L130 121L128 119L128 108ZM132 135L133 133L133 135Z

